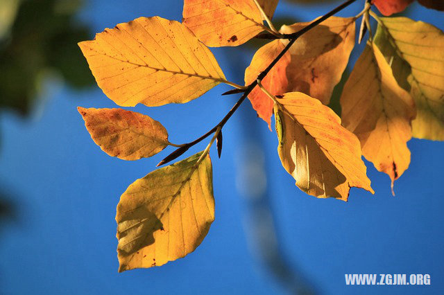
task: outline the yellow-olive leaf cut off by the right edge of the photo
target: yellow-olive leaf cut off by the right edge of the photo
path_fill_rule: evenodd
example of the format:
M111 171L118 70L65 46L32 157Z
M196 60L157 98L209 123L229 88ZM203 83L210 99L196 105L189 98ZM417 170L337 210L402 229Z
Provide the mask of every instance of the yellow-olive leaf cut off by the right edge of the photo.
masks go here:
M386 39L379 39L379 48L393 46L405 66L410 94L416 103L416 119L412 122L413 136L444 140L444 33L431 24L407 17L382 17L381 28ZM383 44L383 45L382 45ZM390 44L390 45L388 45ZM393 55L384 52L386 60ZM393 66L393 64L392 64ZM397 71L393 71L395 76Z

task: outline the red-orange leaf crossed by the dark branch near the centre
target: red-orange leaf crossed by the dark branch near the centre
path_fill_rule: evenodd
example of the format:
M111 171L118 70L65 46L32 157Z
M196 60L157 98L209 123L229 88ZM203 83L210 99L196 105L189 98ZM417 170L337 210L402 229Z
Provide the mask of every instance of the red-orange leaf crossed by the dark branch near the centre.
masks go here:
M276 56L284 49L284 44L280 40L274 40L265 46L259 48L259 50L253 56L250 66L245 70L245 84L249 85L255 81L257 75L264 71L268 64L275 59ZM287 75L285 71L290 63L290 54L287 52L278 61L275 66L268 72L262 85L270 91L273 95L283 94L287 91ZM258 86L248 95L248 99L253 105L253 109L257 111L257 115L262 118L268 127L271 129L271 115L273 114L274 102L269 98Z

